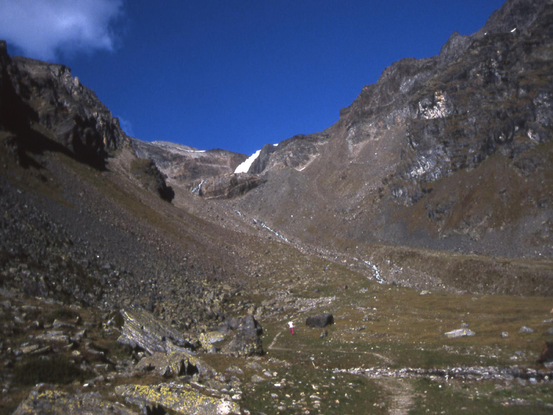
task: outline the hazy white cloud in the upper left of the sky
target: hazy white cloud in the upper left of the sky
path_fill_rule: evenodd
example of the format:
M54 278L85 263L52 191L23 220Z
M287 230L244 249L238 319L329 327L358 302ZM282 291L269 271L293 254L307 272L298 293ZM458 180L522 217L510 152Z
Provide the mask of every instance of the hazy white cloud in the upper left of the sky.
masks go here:
M113 50L122 7L123 0L0 0L0 39L46 60Z

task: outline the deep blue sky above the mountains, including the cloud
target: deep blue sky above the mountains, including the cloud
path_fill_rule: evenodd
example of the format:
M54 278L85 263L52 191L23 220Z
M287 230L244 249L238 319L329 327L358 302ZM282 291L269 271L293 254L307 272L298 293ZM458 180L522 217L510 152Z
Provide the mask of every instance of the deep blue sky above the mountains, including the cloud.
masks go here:
M503 0L0 0L0 15L22 3L78 18L50 39L59 10L0 17L8 52L69 66L130 135L252 154L330 127L386 66L437 55Z

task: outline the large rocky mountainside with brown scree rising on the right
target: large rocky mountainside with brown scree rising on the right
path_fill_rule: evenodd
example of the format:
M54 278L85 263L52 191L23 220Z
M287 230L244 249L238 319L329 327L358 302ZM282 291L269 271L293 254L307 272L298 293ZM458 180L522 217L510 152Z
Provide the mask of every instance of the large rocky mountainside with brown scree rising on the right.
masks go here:
M329 247L553 255L552 19L550 1L507 1L438 56L385 68L323 133L264 147L250 172L268 182L238 208Z

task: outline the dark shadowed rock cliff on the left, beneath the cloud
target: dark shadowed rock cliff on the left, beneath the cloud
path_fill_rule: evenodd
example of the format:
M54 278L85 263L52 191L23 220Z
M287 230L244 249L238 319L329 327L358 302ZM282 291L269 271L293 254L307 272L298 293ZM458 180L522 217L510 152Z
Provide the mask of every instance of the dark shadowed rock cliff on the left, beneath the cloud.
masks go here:
M9 57L6 42L1 42L0 73L0 121L3 128L19 133L22 149L40 151L52 147L52 140L101 166L109 151L128 144L118 119L66 66Z

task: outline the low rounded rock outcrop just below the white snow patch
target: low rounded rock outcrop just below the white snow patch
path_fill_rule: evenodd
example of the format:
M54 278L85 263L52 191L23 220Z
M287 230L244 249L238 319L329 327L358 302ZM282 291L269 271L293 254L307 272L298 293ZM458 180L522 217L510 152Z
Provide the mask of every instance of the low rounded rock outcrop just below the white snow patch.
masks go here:
M254 174L224 174L194 183L192 192L207 199L232 199L263 183L265 180Z

